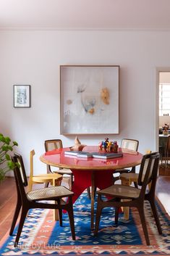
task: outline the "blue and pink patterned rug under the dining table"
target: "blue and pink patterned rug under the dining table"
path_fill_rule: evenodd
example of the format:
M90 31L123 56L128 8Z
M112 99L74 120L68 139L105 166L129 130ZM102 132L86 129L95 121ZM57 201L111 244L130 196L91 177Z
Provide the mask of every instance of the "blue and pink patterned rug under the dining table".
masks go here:
M96 204L96 203L95 203ZM96 206L96 205L95 205ZM19 247L14 248L14 236L1 240L0 255L170 255L170 218L157 202L163 234L159 235L150 206L145 203L150 246L146 246L137 210L130 211L129 220L119 215L114 226L114 209L105 208L98 236L90 230L90 200L82 194L74 205L76 241L72 241L67 214L63 227L53 220L52 210L31 210L20 236Z

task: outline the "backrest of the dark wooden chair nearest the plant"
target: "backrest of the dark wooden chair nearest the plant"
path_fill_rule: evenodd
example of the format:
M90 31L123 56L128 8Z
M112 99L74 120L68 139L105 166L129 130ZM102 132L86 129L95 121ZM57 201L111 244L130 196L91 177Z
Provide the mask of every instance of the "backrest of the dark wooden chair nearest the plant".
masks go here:
M20 154L14 153L14 156L12 156L12 162L20 164L20 168L17 165L14 168L14 178L16 181L18 197L21 197L23 201L24 199L27 199L25 193L25 186L27 186L27 176L25 173L25 166L22 160L22 156Z

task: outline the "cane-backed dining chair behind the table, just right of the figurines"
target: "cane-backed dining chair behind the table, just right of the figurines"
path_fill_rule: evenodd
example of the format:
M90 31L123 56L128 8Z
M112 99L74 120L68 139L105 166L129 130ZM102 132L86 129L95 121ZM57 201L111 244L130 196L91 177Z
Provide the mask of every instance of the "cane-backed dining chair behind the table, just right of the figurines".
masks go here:
M137 152L138 146L139 146L139 141L137 141L136 139L122 139L122 142L121 142L122 151L127 149L129 150L129 152ZM119 175L115 176L115 173L119 173ZM115 181L118 181L120 179L121 173L135 173L135 167L130 169L114 170L113 183L115 183Z

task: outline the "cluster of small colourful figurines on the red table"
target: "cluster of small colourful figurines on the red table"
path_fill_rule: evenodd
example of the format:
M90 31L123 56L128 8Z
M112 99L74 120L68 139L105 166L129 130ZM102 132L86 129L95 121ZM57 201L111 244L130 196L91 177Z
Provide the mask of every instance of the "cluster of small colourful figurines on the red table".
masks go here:
M98 151L99 152L114 152L117 153L119 146L117 141L109 141L109 138L106 138L105 141L101 141L98 144Z

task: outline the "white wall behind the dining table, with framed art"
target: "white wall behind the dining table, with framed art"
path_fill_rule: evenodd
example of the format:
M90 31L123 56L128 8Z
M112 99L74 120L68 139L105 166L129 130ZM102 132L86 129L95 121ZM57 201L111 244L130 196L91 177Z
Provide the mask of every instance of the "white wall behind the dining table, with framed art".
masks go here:
M33 148L37 172L46 171L45 139L75 139L59 135L59 65L120 65L119 135L109 139L156 149L156 67L170 66L169 45L169 31L0 31L0 131L18 141L27 173ZM30 109L13 107L14 84L30 84ZM105 137L79 139L93 145Z

